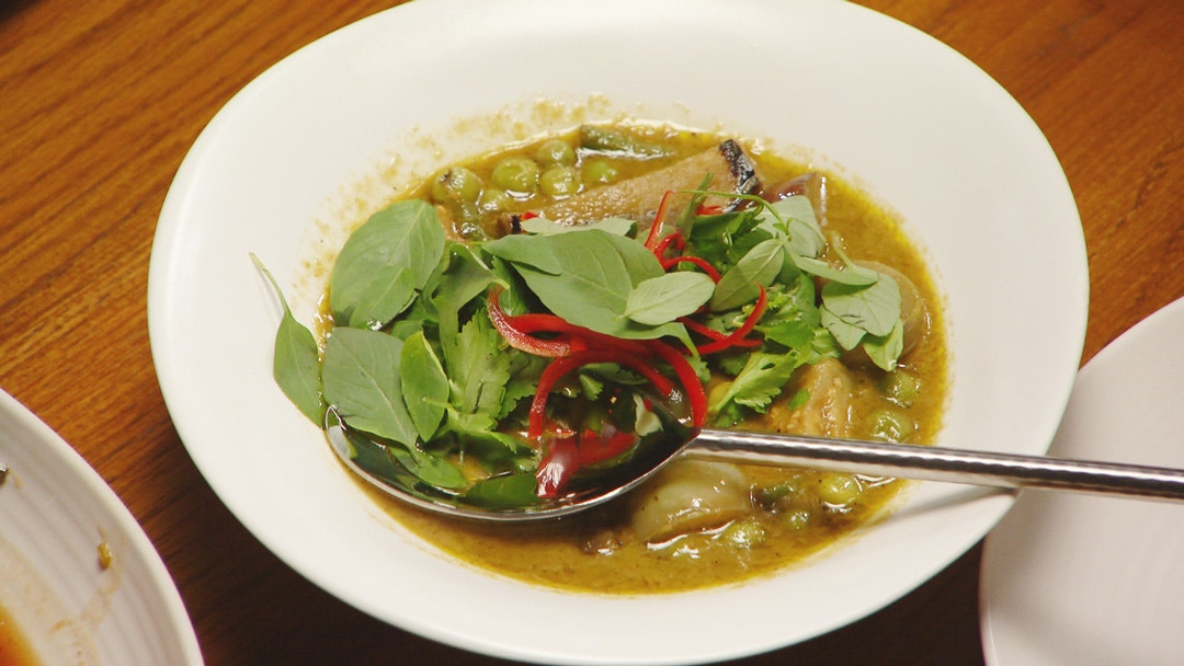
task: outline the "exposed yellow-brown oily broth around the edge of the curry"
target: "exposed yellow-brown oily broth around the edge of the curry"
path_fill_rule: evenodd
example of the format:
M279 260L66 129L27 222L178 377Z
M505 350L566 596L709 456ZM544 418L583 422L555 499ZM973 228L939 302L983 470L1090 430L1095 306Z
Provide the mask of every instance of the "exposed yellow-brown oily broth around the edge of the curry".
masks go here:
M639 163L622 169L620 177L649 172L699 153L721 141L709 132L644 125L631 128L649 141L674 147L674 154L662 161ZM570 136L570 135L567 135ZM496 161L508 153L529 155L538 143L519 144L468 161L474 172L487 175ZM784 182L799 174L816 170L805 164L749 150L765 183ZM924 389L909 408L916 431L908 441L933 444L941 423L946 400L946 341L941 298L918 248L905 237L890 213L835 174L825 174L828 214L823 231L830 243L841 243L849 257L875 260L893 266L908 277L921 292L931 318L929 332L901 361L901 368L918 376ZM430 183L410 193L426 198ZM656 207L655 202L655 207ZM538 203L523 205L523 209ZM876 390L877 370L855 369L852 409L866 414L882 403ZM852 437L868 438L867 428L856 427ZM792 479L810 489L822 484L826 474L799 470L746 467L749 479L762 486ZM617 529L620 506L572 516L548 524L503 525L453 520L429 515L394 502L378 491L359 484L375 503L394 519L424 541L476 567L530 583L578 591L605 594L673 593L686 589L739 582L767 575L800 563L839 542L858 528L883 516L899 494L903 481L862 479L858 500L841 510L816 510L805 528L785 516L754 509L757 520L767 538L752 547L736 545L728 525L702 534L676 537L662 544L628 542L611 550L598 550L606 532Z

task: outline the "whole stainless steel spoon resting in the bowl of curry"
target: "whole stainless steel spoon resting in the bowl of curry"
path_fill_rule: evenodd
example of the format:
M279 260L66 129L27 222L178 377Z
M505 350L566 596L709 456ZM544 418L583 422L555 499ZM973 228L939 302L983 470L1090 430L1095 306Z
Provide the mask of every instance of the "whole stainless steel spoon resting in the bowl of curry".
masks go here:
M670 460L686 455L781 467L849 472L875 477L947 481L999 489L1051 489L1184 500L1184 470L1073 460L1044 455L987 453L905 444L823 439L741 431L687 431L687 437L635 455L599 485L580 487L528 506L488 509L461 497L417 487L413 478L381 478L354 460L354 439L333 414L326 423L333 451L374 487L397 499L448 516L491 522L559 518L618 498L642 485Z

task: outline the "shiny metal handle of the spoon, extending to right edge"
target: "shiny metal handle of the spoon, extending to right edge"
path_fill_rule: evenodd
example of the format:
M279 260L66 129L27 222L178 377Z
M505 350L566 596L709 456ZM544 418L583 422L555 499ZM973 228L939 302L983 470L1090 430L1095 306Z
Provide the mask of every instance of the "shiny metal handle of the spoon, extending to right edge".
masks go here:
M876 477L1184 500L1184 470L1044 455L715 429L700 431L683 453Z

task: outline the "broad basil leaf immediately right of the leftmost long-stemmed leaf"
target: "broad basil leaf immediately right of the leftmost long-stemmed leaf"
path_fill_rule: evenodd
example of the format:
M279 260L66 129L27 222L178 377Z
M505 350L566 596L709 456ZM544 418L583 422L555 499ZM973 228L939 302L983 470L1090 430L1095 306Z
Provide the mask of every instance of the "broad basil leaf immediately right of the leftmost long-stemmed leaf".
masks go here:
M352 428L404 445L416 442L416 423L403 401L403 342L384 332L336 328L324 344L324 399Z

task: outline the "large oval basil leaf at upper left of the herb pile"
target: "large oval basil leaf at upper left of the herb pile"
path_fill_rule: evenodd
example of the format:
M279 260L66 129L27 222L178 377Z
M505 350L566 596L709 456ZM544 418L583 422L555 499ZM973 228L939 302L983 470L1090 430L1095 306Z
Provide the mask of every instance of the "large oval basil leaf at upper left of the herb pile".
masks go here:
M444 227L430 203L400 201L379 211L349 235L334 264L334 318L369 325L375 315L398 315L427 284L443 254Z

